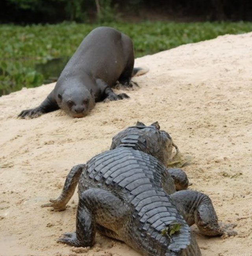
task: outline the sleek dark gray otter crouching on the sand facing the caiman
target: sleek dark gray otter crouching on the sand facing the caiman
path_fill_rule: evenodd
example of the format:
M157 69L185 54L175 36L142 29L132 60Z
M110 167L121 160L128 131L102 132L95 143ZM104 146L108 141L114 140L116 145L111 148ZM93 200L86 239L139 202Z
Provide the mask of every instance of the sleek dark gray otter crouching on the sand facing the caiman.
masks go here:
M83 117L95 102L129 98L125 93L116 95L111 87L117 80L131 87L133 75L147 72L133 66L132 40L113 28L95 28L70 58L54 90L41 105L23 110L19 117L38 117L59 108L73 117Z

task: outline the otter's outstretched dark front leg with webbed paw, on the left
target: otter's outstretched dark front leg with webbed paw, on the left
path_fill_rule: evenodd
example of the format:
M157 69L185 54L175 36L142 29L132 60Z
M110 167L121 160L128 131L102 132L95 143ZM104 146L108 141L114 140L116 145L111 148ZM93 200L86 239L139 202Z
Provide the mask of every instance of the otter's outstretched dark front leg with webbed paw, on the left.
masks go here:
M54 99L54 91L52 90L52 92L46 97L46 99L38 107L21 111L18 117L35 118L35 117L41 116L44 113L48 113L57 109L59 109L59 106L56 100Z

